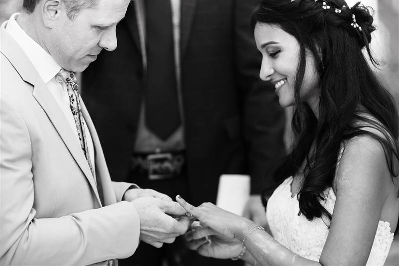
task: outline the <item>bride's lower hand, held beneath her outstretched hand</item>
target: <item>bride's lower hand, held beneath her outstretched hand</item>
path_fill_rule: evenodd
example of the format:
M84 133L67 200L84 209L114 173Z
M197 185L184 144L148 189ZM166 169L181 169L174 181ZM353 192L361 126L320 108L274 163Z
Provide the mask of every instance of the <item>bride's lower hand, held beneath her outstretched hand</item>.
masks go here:
M224 237L209 227L197 227L187 232L185 238L189 249L197 250L205 257L230 259L237 257L242 251L240 241Z

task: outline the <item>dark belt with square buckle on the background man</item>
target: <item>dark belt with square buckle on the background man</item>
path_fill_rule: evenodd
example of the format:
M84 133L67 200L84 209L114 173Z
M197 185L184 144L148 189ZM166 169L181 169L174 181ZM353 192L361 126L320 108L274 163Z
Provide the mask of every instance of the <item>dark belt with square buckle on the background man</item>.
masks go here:
M179 176L186 161L184 151L134 153L131 170L147 174L149 180L170 179Z

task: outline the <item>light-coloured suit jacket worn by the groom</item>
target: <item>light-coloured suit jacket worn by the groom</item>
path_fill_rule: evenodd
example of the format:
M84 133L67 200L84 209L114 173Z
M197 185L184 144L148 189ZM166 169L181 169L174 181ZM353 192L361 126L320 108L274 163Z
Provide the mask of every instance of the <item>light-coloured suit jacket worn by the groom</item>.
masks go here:
M0 29L0 264L89 265L131 256L140 220L133 204L121 198L132 184L111 182L82 102L95 149L95 182L65 116L5 23Z

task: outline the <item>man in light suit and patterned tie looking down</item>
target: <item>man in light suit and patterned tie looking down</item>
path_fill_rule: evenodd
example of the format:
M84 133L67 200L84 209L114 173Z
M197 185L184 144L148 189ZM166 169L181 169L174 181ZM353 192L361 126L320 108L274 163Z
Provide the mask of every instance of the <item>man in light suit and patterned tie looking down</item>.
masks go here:
M116 48L128 4L24 0L1 25L1 265L114 265L188 229L168 196L111 182L77 90L74 72Z

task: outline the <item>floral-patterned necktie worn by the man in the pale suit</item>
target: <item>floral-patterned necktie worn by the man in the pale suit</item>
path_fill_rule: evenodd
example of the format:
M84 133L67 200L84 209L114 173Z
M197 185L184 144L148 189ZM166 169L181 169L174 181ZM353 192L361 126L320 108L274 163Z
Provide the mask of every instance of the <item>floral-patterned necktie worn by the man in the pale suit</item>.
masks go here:
M75 73L61 69L58 72L58 75L61 77L62 81L65 82L69 96L69 106L71 108L72 115L75 120L76 129L78 131L80 147L82 148L87 163L89 164L91 173L94 176L93 165L91 164L89 150L87 146L87 140L86 140L86 133L84 130L82 110L80 109L79 86L76 82Z

